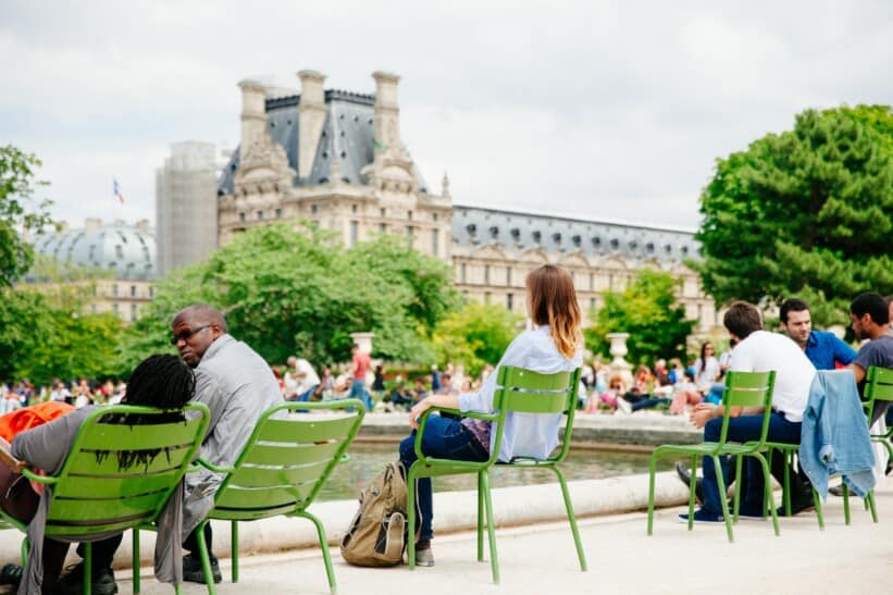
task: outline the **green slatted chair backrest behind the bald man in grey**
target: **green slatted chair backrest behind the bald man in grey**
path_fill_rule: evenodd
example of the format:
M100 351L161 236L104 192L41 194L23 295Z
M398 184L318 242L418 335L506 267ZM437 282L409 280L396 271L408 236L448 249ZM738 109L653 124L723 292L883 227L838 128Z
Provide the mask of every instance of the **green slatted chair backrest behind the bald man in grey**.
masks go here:
M338 414L296 413L320 409ZM305 510L342 460L364 414L358 399L271 407L221 484L210 517L252 520Z

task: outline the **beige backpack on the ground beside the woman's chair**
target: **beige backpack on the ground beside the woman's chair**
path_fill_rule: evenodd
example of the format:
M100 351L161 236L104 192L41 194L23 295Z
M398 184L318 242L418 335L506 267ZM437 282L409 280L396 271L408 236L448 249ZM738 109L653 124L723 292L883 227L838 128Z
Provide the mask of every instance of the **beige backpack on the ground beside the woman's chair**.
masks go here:
M342 537L342 556L355 566L396 566L404 558L406 525L406 468L396 461L360 492L360 508Z

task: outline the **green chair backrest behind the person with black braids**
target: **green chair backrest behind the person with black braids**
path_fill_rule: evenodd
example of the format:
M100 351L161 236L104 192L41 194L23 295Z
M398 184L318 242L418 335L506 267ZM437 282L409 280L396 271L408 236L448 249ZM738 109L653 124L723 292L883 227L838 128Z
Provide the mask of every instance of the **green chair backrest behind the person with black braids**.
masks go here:
M46 534L92 535L153 521L210 420L200 404L184 412L127 405L92 411L50 488Z

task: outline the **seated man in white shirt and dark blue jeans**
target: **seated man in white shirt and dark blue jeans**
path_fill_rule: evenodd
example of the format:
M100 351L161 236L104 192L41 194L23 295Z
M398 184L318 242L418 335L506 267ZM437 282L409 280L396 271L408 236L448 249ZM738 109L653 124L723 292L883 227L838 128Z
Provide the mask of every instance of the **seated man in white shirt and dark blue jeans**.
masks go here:
M801 422L809 399L809 385L816 369L806 355L786 336L762 330L759 310L745 301L736 301L729 307L722 320L725 330L739 344L732 350L729 370L733 372L776 371L772 392L772 413L769 417L770 442L799 444ZM711 404L698 405L692 413L692 422L704 427L704 441L717 442L722 426L724 408ZM727 437L731 442L759 439L762 430L762 411L745 408L733 409L729 420ZM728 463L722 461L723 480L728 478ZM716 470L712 460L705 457L704 501L694 513L694 520L721 522L722 505ZM743 497L741 515L762 517L765 483L759 461L745 457ZM727 483L728 485L728 483ZM687 515L681 516L687 520Z

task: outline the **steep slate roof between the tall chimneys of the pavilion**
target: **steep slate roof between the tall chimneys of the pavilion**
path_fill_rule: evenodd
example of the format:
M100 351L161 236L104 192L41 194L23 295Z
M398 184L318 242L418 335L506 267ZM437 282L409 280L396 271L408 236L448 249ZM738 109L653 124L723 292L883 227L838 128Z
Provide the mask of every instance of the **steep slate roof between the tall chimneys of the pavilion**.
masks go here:
M266 132L288 156L288 166L298 171L298 108L300 95L276 97L266 100ZM375 151L374 122L375 96L337 89L325 91L326 116L313 166L309 176L295 178L296 186L314 186L330 181L332 161L339 160L342 182L365 184L362 169L372 163ZM234 179L239 168L239 151L233 151L230 163L218 183L218 195L233 193ZM427 184L413 164L416 186L427 193Z

